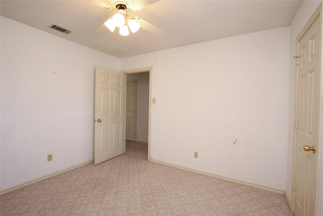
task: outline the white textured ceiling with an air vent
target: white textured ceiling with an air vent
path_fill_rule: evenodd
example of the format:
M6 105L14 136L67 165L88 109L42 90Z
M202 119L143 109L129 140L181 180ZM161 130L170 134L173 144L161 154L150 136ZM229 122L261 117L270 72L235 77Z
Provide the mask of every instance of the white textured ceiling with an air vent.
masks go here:
M128 0L129 1L129 0ZM130 0L135 1L135 0ZM128 36L117 29L95 32L114 11L91 1L1 1L1 16L75 41L103 53L125 58L291 24L301 1L160 0L137 16L166 32L154 35L143 28ZM48 28L71 30L64 34Z

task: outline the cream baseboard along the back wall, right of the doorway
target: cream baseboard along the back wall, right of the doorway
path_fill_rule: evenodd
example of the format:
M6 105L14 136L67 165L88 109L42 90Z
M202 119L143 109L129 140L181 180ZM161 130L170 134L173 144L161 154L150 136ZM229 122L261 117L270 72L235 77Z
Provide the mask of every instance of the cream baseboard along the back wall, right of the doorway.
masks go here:
M230 179L230 178L226 178L226 177L222 177L222 176L218 176L218 175L214 175L214 174L209 174L208 172L202 172L202 171L198 171L198 170L195 170L195 169L190 169L190 168L186 168L186 167L183 167L183 166L173 165L173 164L170 164L170 163L165 163L165 162L161 162L161 161L154 160L154 159L150 159L150 161L154 162L154 163L163 164L163 165L166 165L166 166L171 166L171 167L174 167L174 168L183 169L183 170L186 170L186 171L195 172L197 174L201 174L201 175L204 175L204 176L210 176L210 177L214 177L214 178L218 178L218 179L227 180L229 182L238 183L238 184L241 184L241 185L246 185L246 186L259 188L259 189L266 190L266 191L275 192L275 193L282 194L282 195L286 194L286 191L281 191L281 190L277 190L277 189L274 189L274 188L268 188L268 187L261 186L261 185L255 185L255 184L251 184L251 183L247 183L247 182L242 182L242 181L239 181L239 180Z

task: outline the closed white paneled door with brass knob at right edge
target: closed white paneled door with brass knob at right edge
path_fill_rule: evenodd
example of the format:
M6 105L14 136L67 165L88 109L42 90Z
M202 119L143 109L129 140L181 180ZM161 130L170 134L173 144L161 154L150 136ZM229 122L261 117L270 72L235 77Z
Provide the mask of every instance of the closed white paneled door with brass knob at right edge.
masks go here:
M293 190L295 216L315 214L317 153L310 148L317 148L318 145L320 58L320 19L318 17L298 40L297 128Z

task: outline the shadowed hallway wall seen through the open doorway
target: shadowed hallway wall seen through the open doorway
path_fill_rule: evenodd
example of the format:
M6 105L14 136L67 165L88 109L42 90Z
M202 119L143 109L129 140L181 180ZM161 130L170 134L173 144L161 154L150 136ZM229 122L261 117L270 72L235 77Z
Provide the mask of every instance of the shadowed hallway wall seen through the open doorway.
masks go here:
M127 74L137 80L137 141L148 143L149 72Z

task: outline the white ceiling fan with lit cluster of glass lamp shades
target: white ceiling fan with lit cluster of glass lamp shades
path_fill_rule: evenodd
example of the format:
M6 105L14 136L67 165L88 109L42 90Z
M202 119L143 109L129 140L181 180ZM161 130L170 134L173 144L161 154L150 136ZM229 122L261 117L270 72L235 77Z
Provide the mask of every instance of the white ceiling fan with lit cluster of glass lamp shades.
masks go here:
M160 36L165 34L163 30L160 30L151 23L143 20L139 17L131 17L129 12L136 12L140 9L151 5L159 0L95 0L90 1L92 4L100 6L104 9L116 11L113 17L106 20L95 32L105 33L110 29L114 31L116 27L120 27L120 35L129 35L129 28L131 32L136 32L140 27L149 31L150 33ZM129 27L129 28L128 28Z

